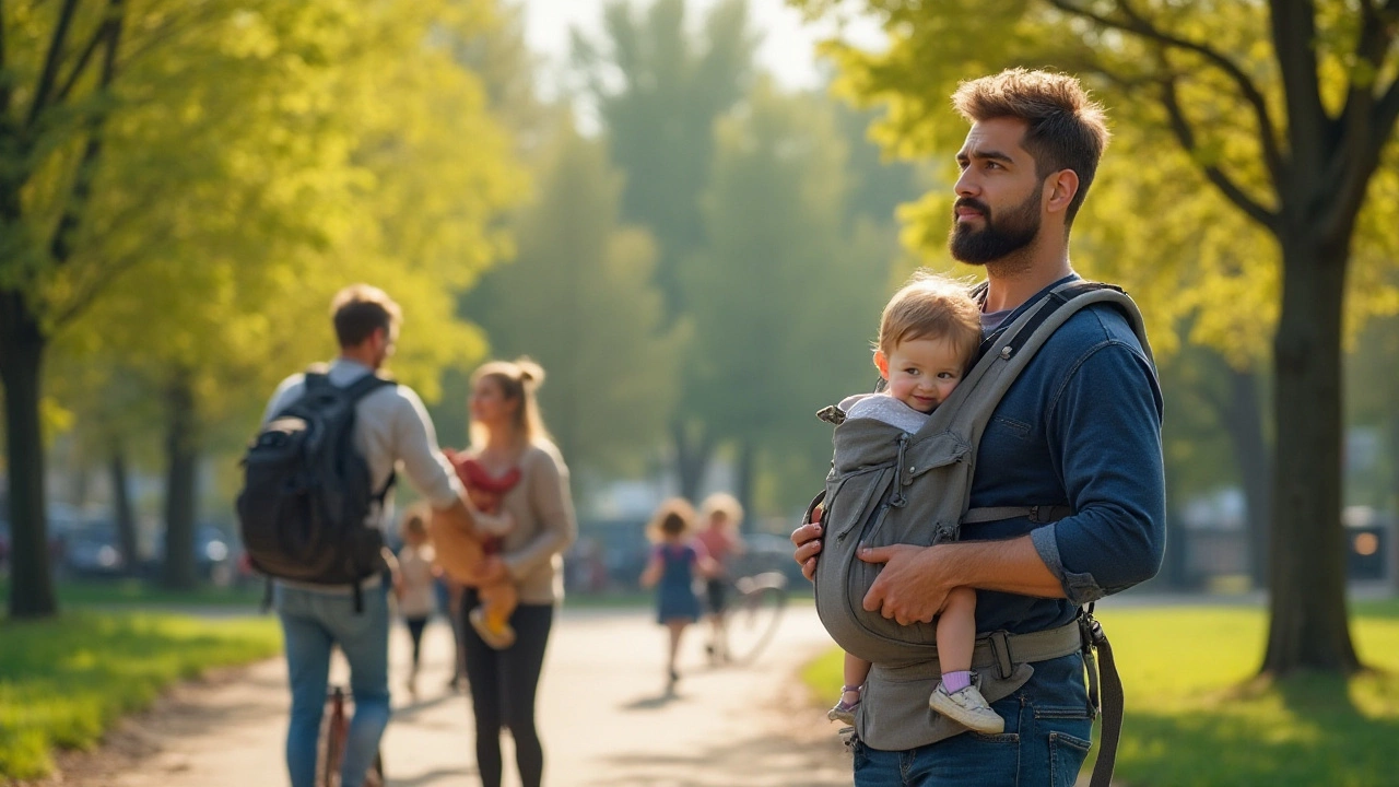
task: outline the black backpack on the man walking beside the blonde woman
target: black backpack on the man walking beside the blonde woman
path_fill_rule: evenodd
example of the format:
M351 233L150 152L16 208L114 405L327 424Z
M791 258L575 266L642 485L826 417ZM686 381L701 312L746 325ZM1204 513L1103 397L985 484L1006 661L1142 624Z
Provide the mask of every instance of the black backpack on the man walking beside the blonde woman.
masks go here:
M383 534L365 525L393 476L375 493L354 444L355 403L395 385L367 374L344 388L306 372L305 394L257 433L243 455L238 522L252 567L298 583L360 583L385 569ZM270 585L269 585L270 588Z

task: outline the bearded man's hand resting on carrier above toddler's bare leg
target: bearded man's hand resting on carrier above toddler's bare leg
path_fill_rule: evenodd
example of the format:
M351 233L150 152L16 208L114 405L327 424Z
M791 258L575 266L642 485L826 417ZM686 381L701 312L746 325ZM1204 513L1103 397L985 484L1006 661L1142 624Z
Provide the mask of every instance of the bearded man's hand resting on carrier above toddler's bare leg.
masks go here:
M860 560L884 564L865 594L865 609L879 612L900 626L932 623L947 604L947 591L951 590L940 566L940 552L936 546L909 543L860 549Z

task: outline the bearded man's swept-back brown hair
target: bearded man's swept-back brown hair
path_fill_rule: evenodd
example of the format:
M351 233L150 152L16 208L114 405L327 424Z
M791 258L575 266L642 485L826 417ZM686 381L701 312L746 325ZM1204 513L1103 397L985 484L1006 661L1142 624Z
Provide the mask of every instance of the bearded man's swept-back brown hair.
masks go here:
M968 122L1018 118L1028 123L1020 146L1035 158L1035 175L1044 179L1059 169L1079 175L1079 192L1065 214L1065 225L1073 224L1111 136L1102 105L1088 98L1079 80L1007 69L963 83L953 105Z

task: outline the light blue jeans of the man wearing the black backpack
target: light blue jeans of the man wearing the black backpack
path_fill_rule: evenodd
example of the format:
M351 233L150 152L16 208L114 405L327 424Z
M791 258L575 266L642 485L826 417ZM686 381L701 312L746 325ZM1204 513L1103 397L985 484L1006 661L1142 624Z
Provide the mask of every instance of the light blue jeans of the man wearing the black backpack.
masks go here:
M343 787L360 787L389 725L389 598L385 587L364 591L364 611L350 594L318 592L277 584L274 604L287 643L291 679L291 725L287 770L291 787L313 787L316 742L326 709L330 648L350 662L354 721L341 763Z

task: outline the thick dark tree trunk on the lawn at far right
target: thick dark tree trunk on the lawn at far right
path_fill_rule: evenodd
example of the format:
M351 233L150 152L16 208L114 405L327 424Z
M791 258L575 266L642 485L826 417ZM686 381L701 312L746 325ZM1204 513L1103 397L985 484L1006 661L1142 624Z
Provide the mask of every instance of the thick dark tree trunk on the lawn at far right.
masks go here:
M1344 244L1284 234L1283 308L1274 353L1270 625L1262 672L1351 674L1346 618L1340 339Z

